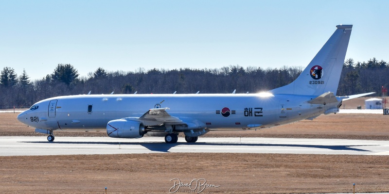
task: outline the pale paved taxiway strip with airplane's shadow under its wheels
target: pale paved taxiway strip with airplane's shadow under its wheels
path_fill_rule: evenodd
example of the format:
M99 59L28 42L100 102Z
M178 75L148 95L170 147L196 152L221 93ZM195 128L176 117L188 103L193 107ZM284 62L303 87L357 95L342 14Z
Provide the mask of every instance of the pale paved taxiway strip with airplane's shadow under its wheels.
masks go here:
M189 144L179 138L166 144L163 137L114 139L109 137L0 137L0 156L138 154L138 153L282 153L389 155L389 141L284 138L199 138Z

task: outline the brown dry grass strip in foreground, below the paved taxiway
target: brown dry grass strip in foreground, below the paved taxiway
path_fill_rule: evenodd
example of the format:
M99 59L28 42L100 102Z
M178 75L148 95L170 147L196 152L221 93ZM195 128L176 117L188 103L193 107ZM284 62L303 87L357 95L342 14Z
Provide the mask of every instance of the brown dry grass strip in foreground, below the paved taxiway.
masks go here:
M353 183L358 193L389 191L386 156L165 153L0 160L2 193L102 194L104 187L108 194L169 193L174 178L205 178L220 186L202 193L352 193Z

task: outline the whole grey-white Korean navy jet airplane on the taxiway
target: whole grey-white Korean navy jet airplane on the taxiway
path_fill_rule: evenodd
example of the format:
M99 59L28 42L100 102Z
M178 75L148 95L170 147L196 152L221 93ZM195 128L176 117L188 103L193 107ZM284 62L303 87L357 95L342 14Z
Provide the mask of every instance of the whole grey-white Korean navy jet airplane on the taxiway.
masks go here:
M106 130L113 138L178 134L194 143L209 131L272 128L320 114L338 113L343 100L372 93L336 97L353 25L336 31L292 83L257 94L73 95L36 102L18 120L48 134L55 130Z

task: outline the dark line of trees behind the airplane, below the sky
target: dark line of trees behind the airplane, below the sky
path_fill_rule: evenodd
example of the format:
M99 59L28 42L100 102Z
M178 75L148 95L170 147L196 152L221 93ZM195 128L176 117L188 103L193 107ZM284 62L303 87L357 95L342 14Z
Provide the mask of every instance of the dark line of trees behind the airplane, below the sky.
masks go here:
M304 67L261 68L230 65L222 68L139 68L135 72L107 72L98 68L80 77L70 64L58 64L53 73L41 80L31 81L26 71L17 76L11 67L0 73L0 109L27 108L33 103L55 96L87 94L191 94L257 93L294 81ZM348 59L344 63L337 96L376 92L388 85L389 65L375 58L368 62Z

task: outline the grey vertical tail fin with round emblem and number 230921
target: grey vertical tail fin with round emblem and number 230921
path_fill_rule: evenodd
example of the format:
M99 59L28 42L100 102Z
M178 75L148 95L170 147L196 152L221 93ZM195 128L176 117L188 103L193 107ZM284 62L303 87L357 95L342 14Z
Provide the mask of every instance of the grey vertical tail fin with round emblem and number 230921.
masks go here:
M336 31L292 83L270 90L272 94L336 95L353 25L337 25Z

